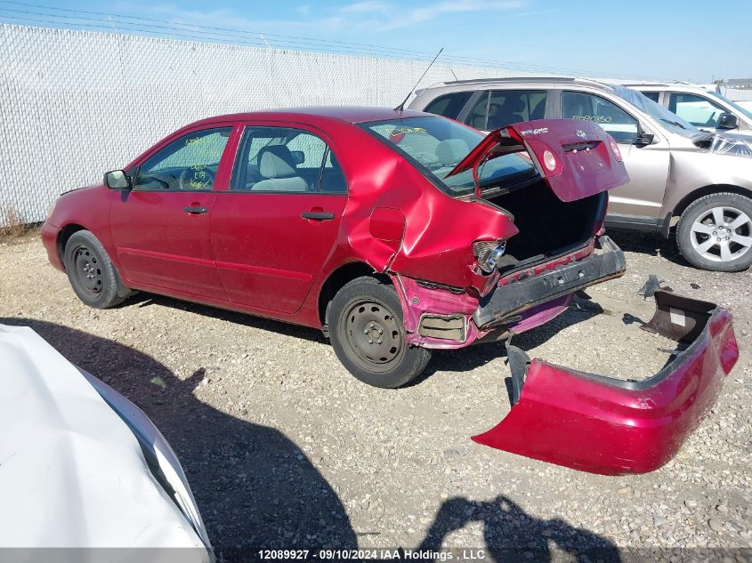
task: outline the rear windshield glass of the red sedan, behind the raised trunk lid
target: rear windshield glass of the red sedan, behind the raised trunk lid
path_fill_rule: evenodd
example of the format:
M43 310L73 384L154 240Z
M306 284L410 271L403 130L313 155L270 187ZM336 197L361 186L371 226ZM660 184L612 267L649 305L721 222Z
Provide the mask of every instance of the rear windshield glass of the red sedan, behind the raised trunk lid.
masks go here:
M477 131L439 116L405 117L360 124L407 157L436 186L452 197L473 194L473 171L465 170L447 178L447 174L483 140ZM481 187L497 186L506 181L537 174L529 158L517 154L497 157L479 171Z

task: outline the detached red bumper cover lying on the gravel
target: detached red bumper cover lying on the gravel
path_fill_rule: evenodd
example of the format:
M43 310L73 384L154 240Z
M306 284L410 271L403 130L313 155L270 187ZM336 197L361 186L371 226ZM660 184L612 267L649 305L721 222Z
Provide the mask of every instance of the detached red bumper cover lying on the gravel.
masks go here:
M644 328L685 346L658 374L621 381L530 360L510 347L519 400L473 440L605 475L645 473L670 461L715 404L739 350L728 310L665 291L655 299Z

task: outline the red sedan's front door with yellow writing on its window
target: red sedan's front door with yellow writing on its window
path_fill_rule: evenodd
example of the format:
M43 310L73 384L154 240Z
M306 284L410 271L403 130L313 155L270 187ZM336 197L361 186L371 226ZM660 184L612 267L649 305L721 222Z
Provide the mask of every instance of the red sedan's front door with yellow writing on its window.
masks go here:
M112 240L133 286L227 299L209 225L231 131L201 129L168 142L138 167L133 189L110 207Z

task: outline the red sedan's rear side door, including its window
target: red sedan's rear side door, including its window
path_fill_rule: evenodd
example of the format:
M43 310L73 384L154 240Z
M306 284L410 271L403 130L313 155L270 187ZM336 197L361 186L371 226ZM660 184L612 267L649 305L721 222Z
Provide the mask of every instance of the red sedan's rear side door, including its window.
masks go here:
M247 123L212 245L231 302L291 314L336 245L347 186L336 153L306 125Z

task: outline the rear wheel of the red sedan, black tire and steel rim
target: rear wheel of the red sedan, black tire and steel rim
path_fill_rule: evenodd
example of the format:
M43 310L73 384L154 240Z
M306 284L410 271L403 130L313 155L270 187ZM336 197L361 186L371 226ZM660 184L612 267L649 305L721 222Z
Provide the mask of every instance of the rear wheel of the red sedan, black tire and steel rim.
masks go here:
M374 387L394 389L420 375L431 350L405 342L397 292L374 277L345 284L327 310L332 347L351 374Z

